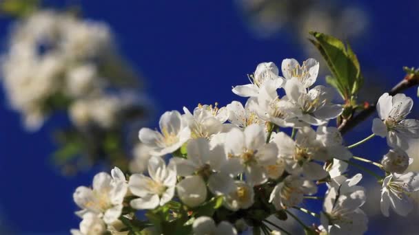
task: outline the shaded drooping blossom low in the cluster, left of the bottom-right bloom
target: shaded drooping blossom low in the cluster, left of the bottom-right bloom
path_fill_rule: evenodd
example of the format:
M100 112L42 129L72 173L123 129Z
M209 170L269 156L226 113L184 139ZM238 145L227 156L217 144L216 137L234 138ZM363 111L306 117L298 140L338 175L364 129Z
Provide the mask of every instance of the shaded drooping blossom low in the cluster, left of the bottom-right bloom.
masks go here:
M283 210L303 202L304 194L312 195L316 192L316 184L312 181L289 175L272 190L269 203L273 203L276 210Z

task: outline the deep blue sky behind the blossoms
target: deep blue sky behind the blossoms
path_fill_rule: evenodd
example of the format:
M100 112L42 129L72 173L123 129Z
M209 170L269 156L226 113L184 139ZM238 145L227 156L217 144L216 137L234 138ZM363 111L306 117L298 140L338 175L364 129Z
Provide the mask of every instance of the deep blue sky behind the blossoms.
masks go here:
M376 0L359 4L370 23L368 35L354 43L354 50L361 67L378 69L382 76L366 79L390 88L404 75L402 66L418 65L419 3ZM280 65L283 58L305 59L301 47L285 32L267 40L254 38L232 1L85 1L82 8L88 18L110 23L123 54L147 78L145 91L158 104L158 115L183 106L192 109L198 102L225 105L238 99L231 87L245 84L246 74L258 63ZM9 23L0 19L3 39ZM415 93L412 90L409 95ZM77 186L90 185L100 169L62 177L48 157L55 148L50 131L65 120L52 118L41 131L28 134L18 113L8 109L3 93L0 104L3 224L19 234L67 234L79 224L73 214L72 192ZM347 135L347 142L367 136L370 125L363 125L361 134ZM356 149L354 154L378 158L387 151L384 139L370 144L376 148Z

